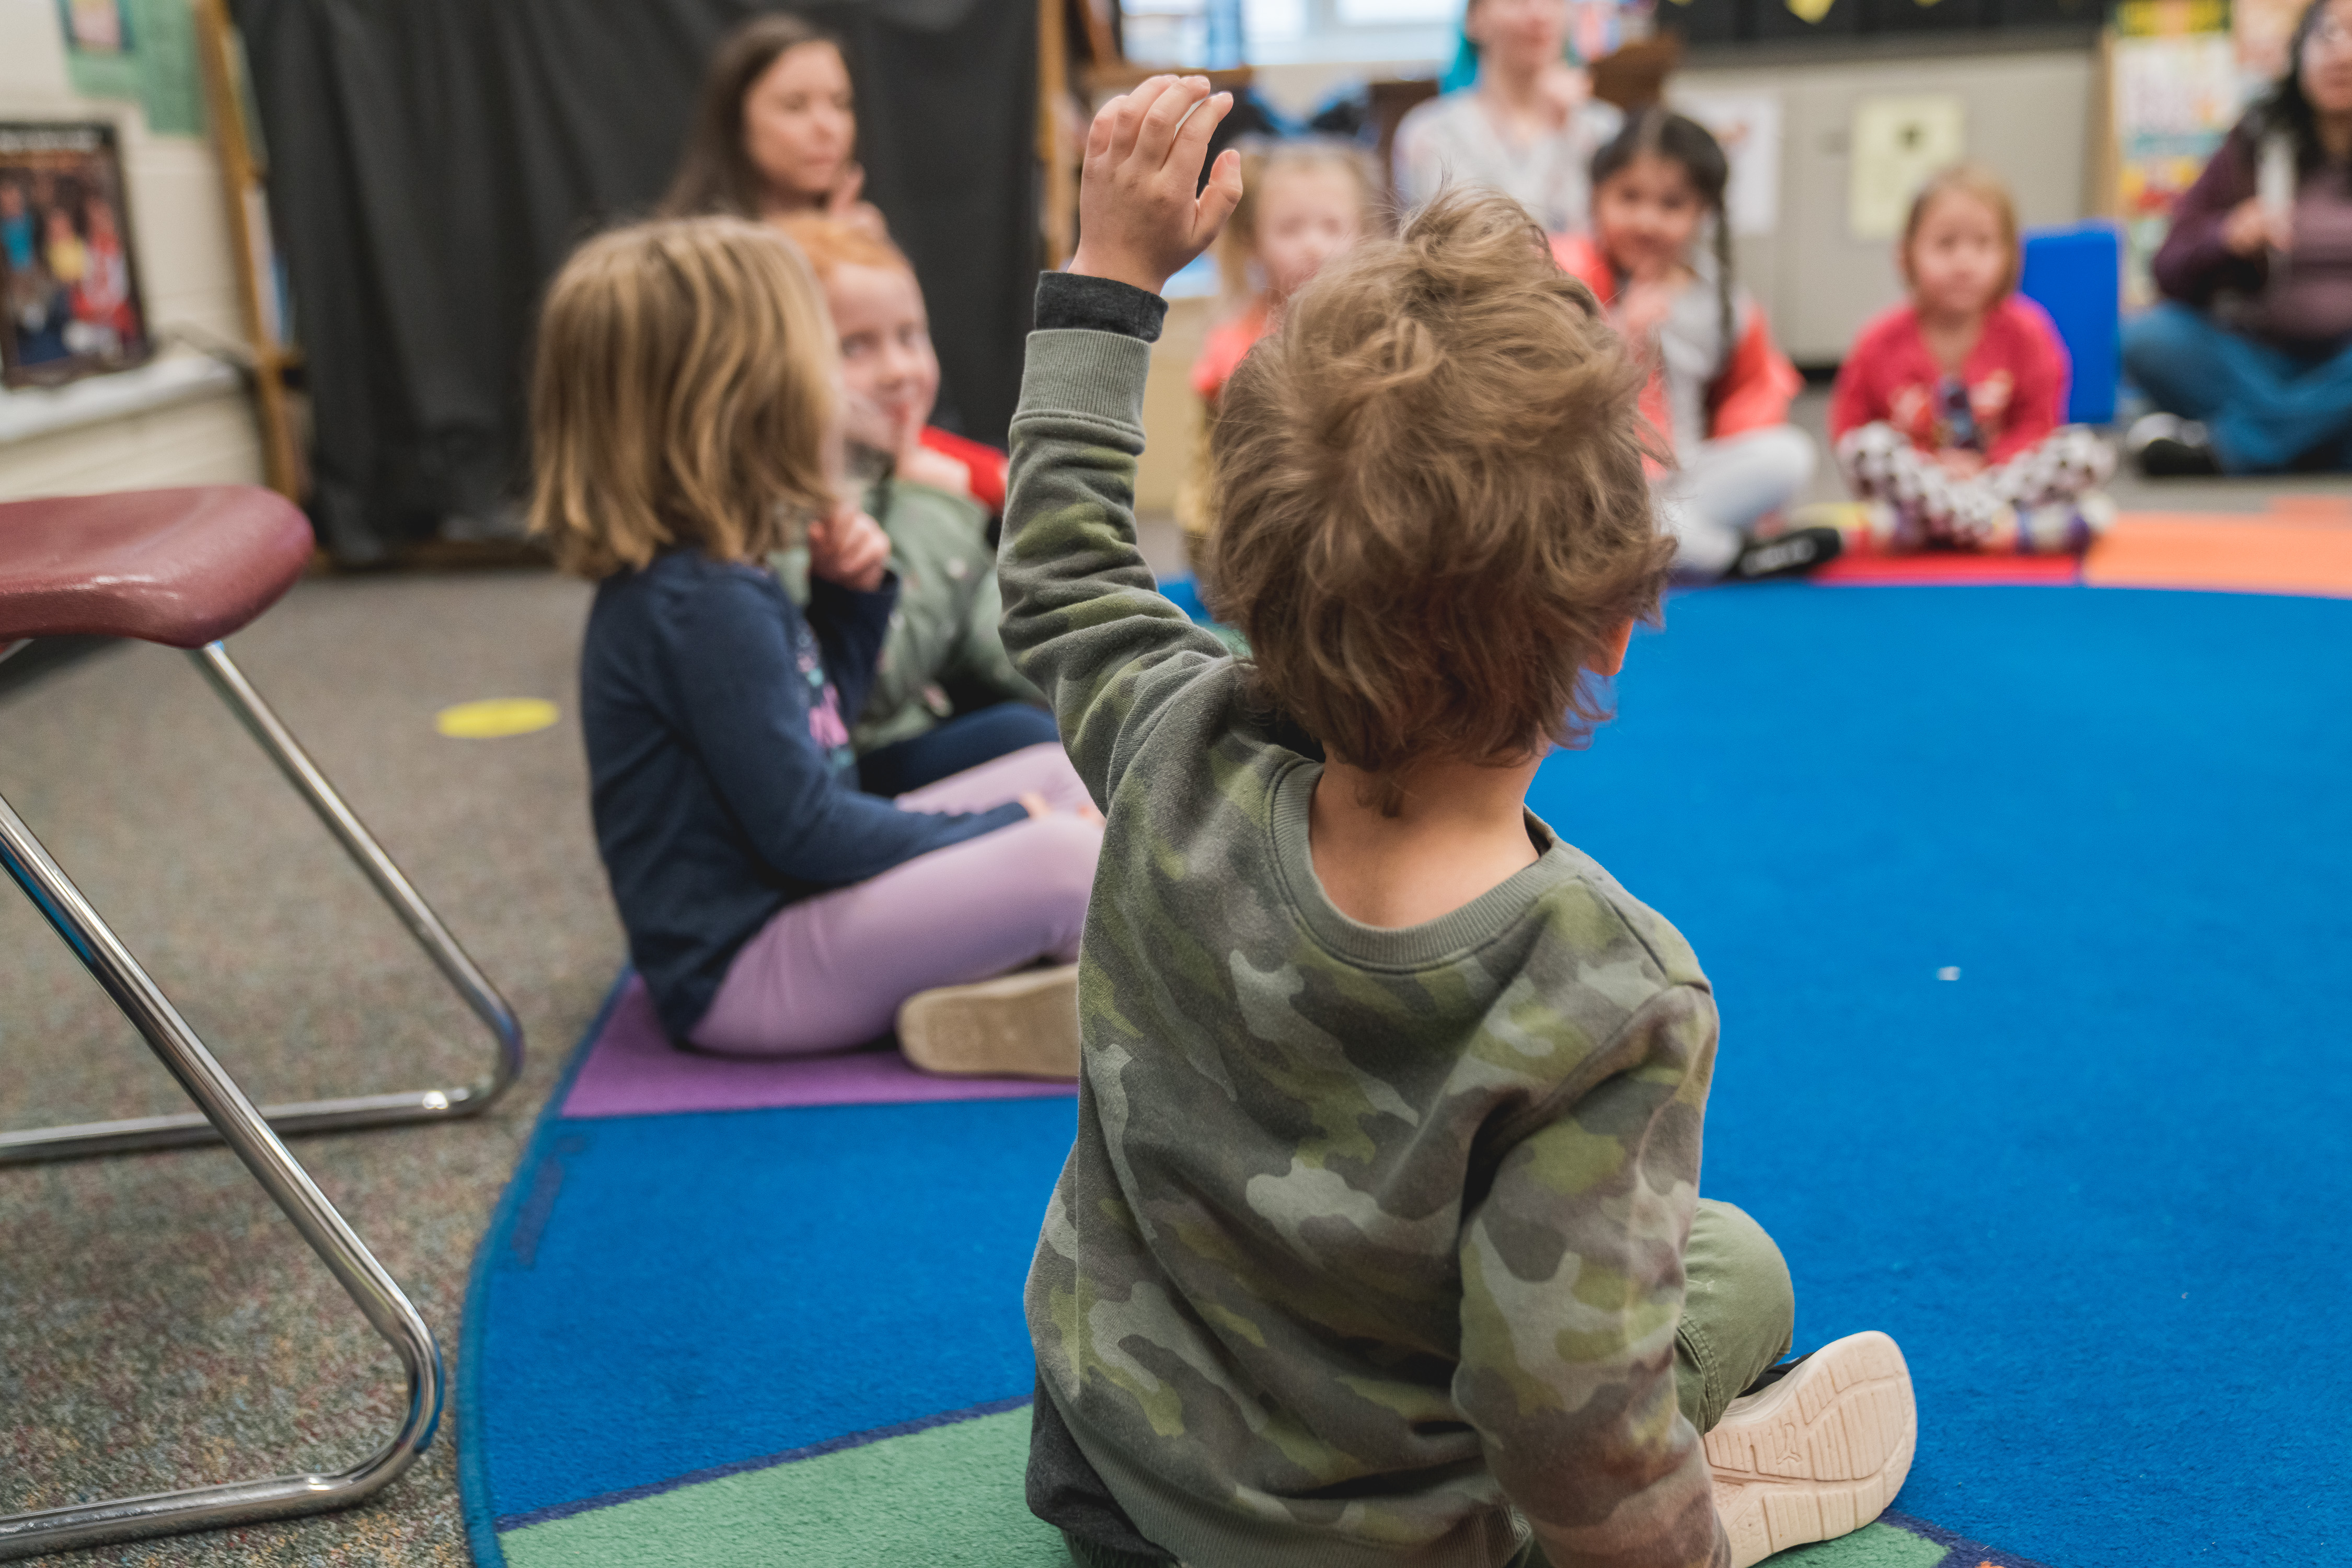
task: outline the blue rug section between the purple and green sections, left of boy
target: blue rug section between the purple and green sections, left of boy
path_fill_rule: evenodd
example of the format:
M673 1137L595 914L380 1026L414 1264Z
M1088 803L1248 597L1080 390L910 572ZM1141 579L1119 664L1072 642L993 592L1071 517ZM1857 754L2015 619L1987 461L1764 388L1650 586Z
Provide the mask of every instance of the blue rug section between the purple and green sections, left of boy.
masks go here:
M1075 1100L553 1121L492 1258L501 1521L1025 1399L1021 1281ZM1023 1194L1021 1201L1007 1201Z

